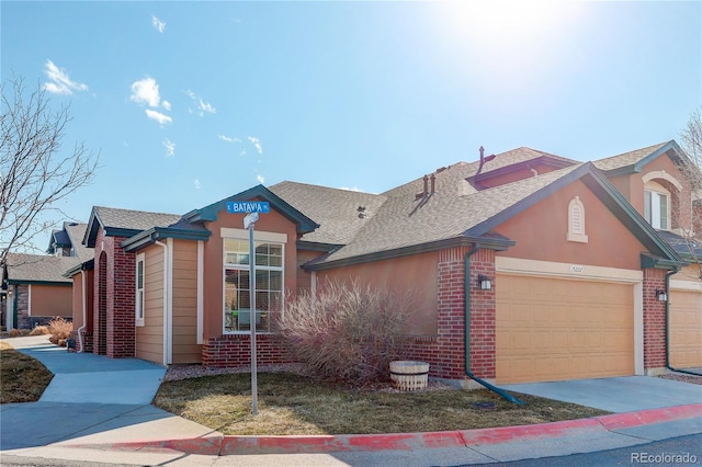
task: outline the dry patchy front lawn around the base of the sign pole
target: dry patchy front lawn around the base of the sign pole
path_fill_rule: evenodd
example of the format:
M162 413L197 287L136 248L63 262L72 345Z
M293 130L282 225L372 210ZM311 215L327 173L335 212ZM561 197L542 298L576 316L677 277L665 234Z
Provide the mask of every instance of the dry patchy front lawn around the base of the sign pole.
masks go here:
M163 383L155 405L227 435L373 434L469 430L554 422L607 412L533 396L517 406L487 390L398 392L348 389L290 373L258 375L251 414L249 374Z

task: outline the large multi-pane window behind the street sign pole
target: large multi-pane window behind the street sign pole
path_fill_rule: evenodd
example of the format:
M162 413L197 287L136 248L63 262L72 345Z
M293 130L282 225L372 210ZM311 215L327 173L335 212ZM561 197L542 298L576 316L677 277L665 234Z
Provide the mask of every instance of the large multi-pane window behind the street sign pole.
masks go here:
M271 331L271 315L283 307L283 244L254 242L256 314L258 332ZM249 241L224 239L224 330L251 331L251 269Z

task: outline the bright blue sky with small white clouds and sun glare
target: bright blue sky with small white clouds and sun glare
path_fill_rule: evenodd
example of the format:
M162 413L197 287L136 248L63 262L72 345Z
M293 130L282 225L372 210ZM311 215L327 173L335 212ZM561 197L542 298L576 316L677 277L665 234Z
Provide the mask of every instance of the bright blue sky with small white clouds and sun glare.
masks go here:
M678 138L702 104L699 1L2 1L0 15L2 81L70 104L64 150L101 153L60 206L83 221L93 205L184 214L283 180L380 193L480 146L599 159Z

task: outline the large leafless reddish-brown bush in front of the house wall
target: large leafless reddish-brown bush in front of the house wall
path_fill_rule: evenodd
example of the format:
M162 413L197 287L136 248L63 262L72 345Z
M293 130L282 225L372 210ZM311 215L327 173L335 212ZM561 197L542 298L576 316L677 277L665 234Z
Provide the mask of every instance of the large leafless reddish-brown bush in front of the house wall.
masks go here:
M409 295L329 282L316 296L302 292L286 304L280 332L318 377L353 386L387 380L389 363L405 353L410 304Z

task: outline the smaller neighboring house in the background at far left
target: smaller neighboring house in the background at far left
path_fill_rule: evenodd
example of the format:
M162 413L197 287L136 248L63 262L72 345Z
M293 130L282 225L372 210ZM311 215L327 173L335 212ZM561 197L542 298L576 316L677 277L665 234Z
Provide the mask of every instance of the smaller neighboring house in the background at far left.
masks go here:
M2 326L31 329L56 317L72 316L71 281L67 269L92 258L82 244L86 224L64 223L54 230L46 250L50 255L11 253L2 271Z

